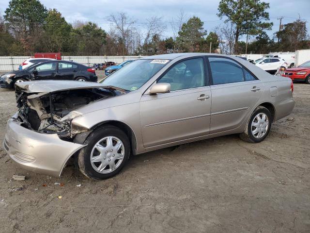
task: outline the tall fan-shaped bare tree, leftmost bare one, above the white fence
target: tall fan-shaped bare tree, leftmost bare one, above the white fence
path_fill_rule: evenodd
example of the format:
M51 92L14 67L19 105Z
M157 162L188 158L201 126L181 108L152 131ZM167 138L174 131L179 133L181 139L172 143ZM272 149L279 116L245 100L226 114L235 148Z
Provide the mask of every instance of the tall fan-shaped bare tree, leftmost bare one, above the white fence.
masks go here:
M125 50L128 48L129 36L132 35L132 31L134 31L134 24L136 20L124 12L119 12L116 15L112 14L108 17L111 26L114 27L115 32L119 34L119 37L123 42L123 56L125 55Z

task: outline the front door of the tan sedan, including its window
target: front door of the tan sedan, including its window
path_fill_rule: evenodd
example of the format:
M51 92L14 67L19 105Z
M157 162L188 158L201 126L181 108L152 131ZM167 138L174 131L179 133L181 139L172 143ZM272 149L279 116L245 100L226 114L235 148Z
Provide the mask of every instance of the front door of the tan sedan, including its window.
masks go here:
M141 97L145 148L209 134L211 88L205 67L202 57L180 61L157 81L170 83L170 93Z

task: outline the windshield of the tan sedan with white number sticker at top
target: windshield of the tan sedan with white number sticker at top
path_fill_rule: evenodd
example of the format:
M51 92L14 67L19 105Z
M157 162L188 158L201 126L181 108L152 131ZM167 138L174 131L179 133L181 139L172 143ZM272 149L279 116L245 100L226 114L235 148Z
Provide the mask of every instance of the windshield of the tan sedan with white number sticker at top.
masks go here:
M149 81L162 67L168 64L169 60L141 59L118 69L102 80L107 86L115 86L128 91L139 89Z

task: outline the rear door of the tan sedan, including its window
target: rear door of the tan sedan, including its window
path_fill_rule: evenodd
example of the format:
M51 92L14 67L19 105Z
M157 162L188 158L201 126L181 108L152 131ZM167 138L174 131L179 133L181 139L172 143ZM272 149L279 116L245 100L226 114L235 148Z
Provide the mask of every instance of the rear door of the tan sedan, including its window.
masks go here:
M208 58L212 84L210 133L229 131L240 126L263 93L263 84L232 59Z

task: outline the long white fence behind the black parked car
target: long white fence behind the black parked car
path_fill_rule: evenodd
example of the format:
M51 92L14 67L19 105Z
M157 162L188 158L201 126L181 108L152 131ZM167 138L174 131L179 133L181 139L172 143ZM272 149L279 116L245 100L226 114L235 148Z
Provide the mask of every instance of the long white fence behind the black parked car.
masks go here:
M92 66L94 63L115 62L122 63L126 60L138 59L143 56L62 56L62 60L74 61L86 66ZM0 70L17 70L19 65L28 59L29 56L0 57Z

